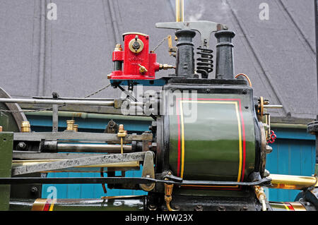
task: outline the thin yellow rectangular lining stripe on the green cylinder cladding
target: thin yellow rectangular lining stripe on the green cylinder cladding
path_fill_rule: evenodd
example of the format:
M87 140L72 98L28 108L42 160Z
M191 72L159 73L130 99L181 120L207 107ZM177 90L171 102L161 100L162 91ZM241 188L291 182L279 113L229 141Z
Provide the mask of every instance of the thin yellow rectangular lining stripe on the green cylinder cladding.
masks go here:
M240 163L239 163L239 171L237 175L237 182L240 182L241 179L241 173L242 173L242 131L241 131L241 122L240 122L240 114L237 106L237 102L217 102L217 101L180 101L179 107L180 107L180 114L181 114L181 133L182 133L182 143L181 143L181 149L182 149L182 160L181 160L181 178L183 178L184 175L184 121L183 121L183 109L182 109L182 103L189 103L189 102L196 102L196 103L203 103L203 104L235 104L235 111L237 116L237 126L238 126L238 133L239 133L239 149L240 149ZM204 186L209 188L238 188L238 186Z

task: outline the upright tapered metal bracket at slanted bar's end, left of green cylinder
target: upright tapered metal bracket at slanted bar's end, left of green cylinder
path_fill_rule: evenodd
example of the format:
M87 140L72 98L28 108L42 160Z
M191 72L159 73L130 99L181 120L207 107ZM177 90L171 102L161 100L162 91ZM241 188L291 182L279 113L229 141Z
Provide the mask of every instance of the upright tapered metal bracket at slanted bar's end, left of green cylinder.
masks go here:
M145 159L143 159L143 171L141 178L155 178L155 164L153 163L153 152L146 152ZM155 188L155 183L144 183L139 185L141 189L145 191L151 191Z

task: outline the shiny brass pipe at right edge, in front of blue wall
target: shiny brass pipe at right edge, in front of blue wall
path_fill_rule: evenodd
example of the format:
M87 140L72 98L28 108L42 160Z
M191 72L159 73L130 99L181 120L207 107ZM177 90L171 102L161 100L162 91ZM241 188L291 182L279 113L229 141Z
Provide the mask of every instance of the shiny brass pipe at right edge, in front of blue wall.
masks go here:
M272 186L269 188L279 188L288 190L302 190L310 187L317 187L318 181L315 176L291 176L281 174L271 174Z

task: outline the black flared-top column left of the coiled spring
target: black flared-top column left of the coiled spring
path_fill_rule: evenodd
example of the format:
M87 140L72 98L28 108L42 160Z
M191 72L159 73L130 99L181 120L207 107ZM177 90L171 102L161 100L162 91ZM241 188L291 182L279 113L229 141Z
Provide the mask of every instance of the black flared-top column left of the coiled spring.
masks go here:
M193 30L178 30L176 75L178 77L193 78L194 76L194 44L192 39L196 35Z

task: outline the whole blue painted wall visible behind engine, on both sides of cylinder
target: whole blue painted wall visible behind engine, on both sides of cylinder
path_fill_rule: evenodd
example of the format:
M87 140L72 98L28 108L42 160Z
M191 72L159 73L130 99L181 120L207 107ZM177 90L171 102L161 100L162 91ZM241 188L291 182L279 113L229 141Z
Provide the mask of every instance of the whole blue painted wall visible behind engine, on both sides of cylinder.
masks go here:
M52 118L49 116L28 116L34 131L52 130ZM71 118L59 117L59 128L65 130L66 120ZM75 118L79 125L79 131L103 132L108 120ZM124 124L125 130L141 133L148 130L150 121L116 121ZM272 144L273 152L268 155L266 169L271 174L289 174L311 176L314 174L315 146L314 135L306 133L305 129L275 128L276 142ZM117 174L119 175L119 174ZM52 173L49 177L99 177L99 173ZM106 174L105 174L106 176ZM126 176L141 176L141 171L127 171ZM42 186L42 197L47 197L47 188L51 185ZM57 187L58 198L100 198L105 196L100 184L59 184ZM266 195L271 201L293 201L298 190L266 190ZM107 195L144 195L141 190L115 190L107 188Z

